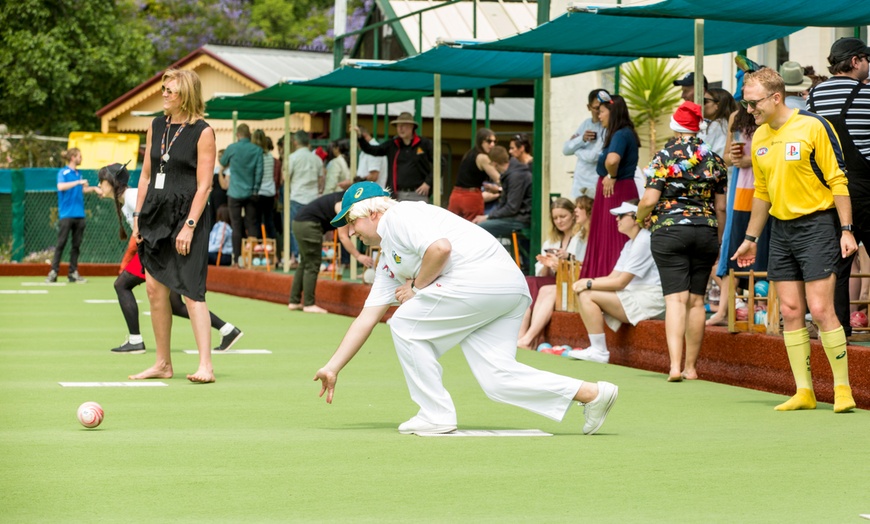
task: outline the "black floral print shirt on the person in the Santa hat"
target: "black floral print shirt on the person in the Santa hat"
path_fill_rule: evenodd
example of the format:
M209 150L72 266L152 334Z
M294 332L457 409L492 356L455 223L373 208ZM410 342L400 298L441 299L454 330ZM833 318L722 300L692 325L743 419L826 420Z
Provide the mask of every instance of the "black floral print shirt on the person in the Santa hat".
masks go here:
M696 136L668 141L649 164L646 187L662 192L651 215L650 232L665 226L718 227L713 207L725 194L722 157Z

